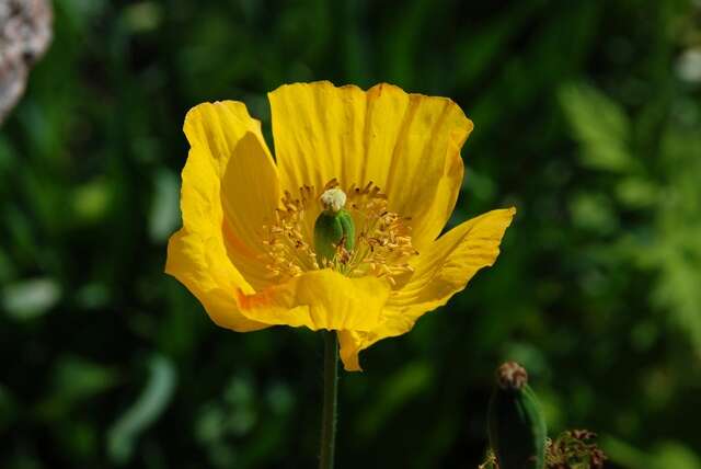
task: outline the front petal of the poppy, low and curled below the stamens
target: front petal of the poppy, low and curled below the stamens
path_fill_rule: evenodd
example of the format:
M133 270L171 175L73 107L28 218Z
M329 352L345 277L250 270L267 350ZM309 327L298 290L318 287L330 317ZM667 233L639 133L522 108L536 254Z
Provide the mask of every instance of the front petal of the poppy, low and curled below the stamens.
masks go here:
M324 268L255 294L241 291L239 306L244 316L271 325L370 331L378 327L389 294L380 278L349 278Z

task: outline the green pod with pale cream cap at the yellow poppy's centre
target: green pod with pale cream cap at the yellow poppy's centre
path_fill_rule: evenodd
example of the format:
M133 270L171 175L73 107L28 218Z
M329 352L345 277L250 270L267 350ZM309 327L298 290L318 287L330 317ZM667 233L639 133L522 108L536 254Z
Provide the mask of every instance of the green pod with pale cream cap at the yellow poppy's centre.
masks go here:
M340 188L330 188L321 195L324 210L314 222L314 250L320 265L332 262L343 248L353 251L355 225L350 214L343 209L346 195Z

